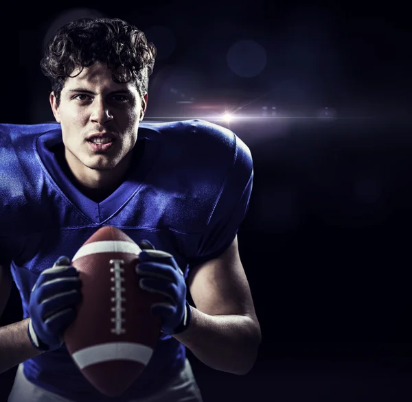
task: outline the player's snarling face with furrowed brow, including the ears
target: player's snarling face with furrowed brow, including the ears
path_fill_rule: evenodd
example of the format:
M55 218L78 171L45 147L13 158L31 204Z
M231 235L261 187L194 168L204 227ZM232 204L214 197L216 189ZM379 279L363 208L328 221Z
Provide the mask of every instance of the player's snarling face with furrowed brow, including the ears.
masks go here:
M79 70L73 71L75 75ZM50 104L62 128L65 155L75 176L115 169L137 141L139 122L144 117L147 94L142 99L133 82L118 84L106 64L84 67L67 78L57 105L54 93ZM96 144L93 134L111 137L108 145Z

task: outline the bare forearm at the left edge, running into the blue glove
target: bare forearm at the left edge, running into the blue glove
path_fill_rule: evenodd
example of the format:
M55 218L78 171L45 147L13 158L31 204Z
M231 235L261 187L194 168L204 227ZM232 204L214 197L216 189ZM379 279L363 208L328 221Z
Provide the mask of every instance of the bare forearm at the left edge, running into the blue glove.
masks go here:
M40 355L27 336L29 318L0 327L0 373Z

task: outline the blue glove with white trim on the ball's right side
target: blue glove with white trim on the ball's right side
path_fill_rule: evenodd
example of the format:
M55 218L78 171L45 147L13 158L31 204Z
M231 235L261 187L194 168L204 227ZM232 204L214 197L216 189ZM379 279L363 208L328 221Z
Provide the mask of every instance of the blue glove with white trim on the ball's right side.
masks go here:
M186 300L186 283L183 272L174 257L168 252L155 250L149 241L139 245L139 263L136 273L143 276L139 280L141 289L163 294L164 303L151 307L154 316L161 317L161 331L168 335L182 333L192 321L192 311Z

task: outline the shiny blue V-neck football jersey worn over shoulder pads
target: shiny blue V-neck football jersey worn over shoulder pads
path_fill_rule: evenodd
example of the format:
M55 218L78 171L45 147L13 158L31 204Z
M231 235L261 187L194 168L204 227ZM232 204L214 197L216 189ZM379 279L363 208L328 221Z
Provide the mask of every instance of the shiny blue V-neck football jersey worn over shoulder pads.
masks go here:
M0 261L11 269L27 318L39 274L72 258L102 226L174 255L185 277L236 237L249 206L253 163L233 132L207 121L141 123L124 182L90 200L60 166L58 123L0 125ZM183 368L185 348L162 335L135 384L116 401L156 392ZM85 379L63 345L24 362L27 379L79 402L113 401Z

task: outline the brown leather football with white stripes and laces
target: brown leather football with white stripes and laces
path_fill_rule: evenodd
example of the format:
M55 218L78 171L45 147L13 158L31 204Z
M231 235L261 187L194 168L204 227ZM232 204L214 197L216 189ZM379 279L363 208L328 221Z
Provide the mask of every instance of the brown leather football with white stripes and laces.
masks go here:
M150 306L163 296L139 287L140 251L122 230L105 226L71 261L80 272L82 301L65 331L66 346L84 377L108 397L136 381L160 338L161 321Z

